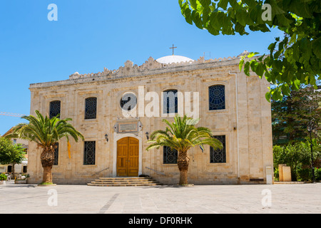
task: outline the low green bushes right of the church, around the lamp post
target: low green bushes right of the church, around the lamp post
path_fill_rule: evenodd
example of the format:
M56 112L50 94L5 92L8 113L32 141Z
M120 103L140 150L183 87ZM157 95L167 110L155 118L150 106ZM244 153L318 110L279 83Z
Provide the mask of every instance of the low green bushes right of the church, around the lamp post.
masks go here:
M321 159L321 144L317 139L312 140L312 149L313 165L317 167ZM275 169L279 164L286 164L291 167L292 180L307 181L312 178L310 140L282 146L275 145L273 147L273 160Z

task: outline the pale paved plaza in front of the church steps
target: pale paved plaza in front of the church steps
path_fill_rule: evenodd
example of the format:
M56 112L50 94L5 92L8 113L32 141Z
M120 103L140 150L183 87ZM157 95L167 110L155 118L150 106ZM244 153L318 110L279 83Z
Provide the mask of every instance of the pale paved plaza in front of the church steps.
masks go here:
M0 185L0 213L320 213L321 183L91 187Z

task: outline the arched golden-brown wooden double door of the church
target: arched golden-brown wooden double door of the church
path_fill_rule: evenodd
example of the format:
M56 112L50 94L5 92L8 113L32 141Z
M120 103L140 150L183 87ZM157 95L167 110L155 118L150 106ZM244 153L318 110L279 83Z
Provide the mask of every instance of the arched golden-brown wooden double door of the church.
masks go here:
M117 141L117 176L138 177L139 140L132 137Z

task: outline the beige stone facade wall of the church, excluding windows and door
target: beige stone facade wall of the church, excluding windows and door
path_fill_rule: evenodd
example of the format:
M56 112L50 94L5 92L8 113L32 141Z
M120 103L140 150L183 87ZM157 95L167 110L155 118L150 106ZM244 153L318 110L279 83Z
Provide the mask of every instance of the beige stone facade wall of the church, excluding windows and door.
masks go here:
M61 100L61 118L72 118L71 123L86 140L96 141L96 165L83 165L83 142L71 141L71 158L67 143L59 142L58 165L53 167L57 184L86 184L98 177L116 175L116 140L125 135L116 133L114 126L123 120L119 101L123 93L131 91L138 96L138 86L145 93L175 88L181 92L198 92L200 95L200 122L213 130L214 135L226 135L226 163L210 163L210 148L199 147L189 151L189 182L194 184L252 184L265 183L265 167L272 167L272 129L270 103L265 100L269 84L258 76L247 77L238 69L238 59L202 61L159 65L152 58L143 66L126 62L118 71L86 76L73 74L69 80L31 84L31 115L35 110L49 113L49 103ZM143 70L142 70L143 68ZM236 76L235 76L236 73ZM209 110L208 87L225 86L225 110ZM238 93L236 93L236 91ZM97 98L97 118L85 120L85 99ZM162 99L161 99L162 100ZM138 101L139 105L139 101ZM192 105L193 107L193 105ZM237 111L238 110L238 111ZM168 117L168 120L173 118ZM127 134L141 142L140 167L164 184L179 180L177 165L163 164L163 150L146 151L146 132L164 129L163 117L139 117L142 129ZM108 135L106 142L105 135ZM29 143L29 174L32 183L42 180L40 150Z

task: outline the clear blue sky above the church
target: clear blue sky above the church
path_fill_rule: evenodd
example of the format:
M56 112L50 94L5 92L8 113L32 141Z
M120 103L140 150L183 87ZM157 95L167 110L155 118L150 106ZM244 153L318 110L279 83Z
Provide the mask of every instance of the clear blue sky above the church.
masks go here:
M49 21L49 4L58 21ZM150 56L198 59L267 53L280 31L248 36L213 36L185 22L178 0L1 0L0 112L30 114L31 83L66 80L72 73L97 73L143 64ZM23 122L0 115L0 135Z

